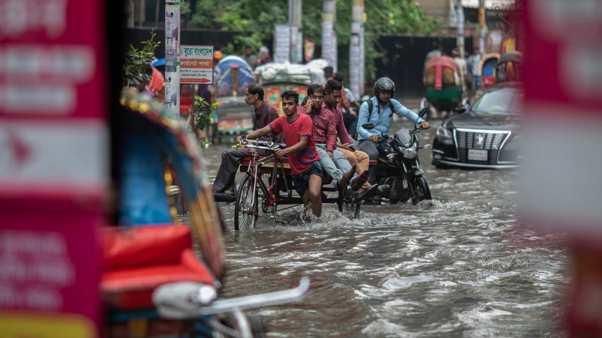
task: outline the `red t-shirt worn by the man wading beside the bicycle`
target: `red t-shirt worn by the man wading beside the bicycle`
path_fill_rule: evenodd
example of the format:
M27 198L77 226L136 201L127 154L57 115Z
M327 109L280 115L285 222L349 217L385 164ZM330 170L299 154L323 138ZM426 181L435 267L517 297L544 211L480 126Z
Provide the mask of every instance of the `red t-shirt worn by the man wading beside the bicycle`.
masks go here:
M311 117L299 114L296 120L289 122L285 115L276 118L276 120L273 120L268 125L273 132L281 132L284 135L284 143L287 145L287 148L299 143L301 137L309 137L305 149L288 155L288 163L291 165L293 175L303 173L303 171L308 170L312 162L320 160L320 155L315 150Z

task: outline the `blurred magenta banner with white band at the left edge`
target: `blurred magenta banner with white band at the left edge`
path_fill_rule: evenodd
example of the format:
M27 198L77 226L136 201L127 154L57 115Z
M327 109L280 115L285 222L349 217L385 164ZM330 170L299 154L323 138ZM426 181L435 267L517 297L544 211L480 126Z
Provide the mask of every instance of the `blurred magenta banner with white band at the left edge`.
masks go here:
M0 336L98 337L104 2L0 0Z

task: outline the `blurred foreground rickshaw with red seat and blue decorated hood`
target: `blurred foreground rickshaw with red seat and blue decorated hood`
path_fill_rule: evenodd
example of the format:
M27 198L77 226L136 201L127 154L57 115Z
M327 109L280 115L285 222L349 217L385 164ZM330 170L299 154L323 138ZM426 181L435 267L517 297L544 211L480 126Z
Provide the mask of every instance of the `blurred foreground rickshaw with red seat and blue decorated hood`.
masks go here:
M105 337L262 336L244 310L299 300L309 281L220 299L225 227L196 142L157 100L126 89L121 103L118 221L101 231Z

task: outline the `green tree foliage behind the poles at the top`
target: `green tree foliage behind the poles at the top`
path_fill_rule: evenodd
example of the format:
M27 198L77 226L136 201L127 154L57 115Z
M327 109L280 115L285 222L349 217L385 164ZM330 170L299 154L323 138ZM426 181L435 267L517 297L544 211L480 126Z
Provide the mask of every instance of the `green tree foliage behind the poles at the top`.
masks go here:
M364 1L366 74L373 78L374 60L384 53L377 45L381 35L429 34L436 28L436 20L426 16L420 5L412 0ZM321 48L321 14L323 0L303 0L303 37ZM238 35L223 49L227 53L242 54L245 45L255 50L272 41L274 25L288 22L288 1L284 0L197 0L196 13L191 16L190 26L197 28L226 29L249 32ZM337 0L335 32L338 44L338 69L349 69L349 38L351 32L351 1ZM271 49L271 46L268 46Z

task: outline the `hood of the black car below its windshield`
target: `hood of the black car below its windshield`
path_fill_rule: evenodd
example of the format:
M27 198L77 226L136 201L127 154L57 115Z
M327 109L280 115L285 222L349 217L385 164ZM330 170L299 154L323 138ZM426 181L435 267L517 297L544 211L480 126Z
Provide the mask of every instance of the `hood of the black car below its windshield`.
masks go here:
M515 130L521 123L520 115L511 114L474 114L467 111L445 120L445 124L454 128L479 128L491 130Z

